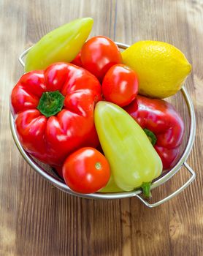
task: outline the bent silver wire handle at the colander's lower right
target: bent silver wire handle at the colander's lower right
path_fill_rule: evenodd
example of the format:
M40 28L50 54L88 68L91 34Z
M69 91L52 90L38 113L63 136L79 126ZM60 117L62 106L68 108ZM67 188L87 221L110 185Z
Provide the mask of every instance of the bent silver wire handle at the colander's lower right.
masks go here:
M148 201L146 201L144 198L142 198L140 195L136 195L139 200L142 201L142 203L145 204L145 206L148 206L149 208L153 208L156 206L160 206L162 203L165 203L166 201L170 200L172 197L175 197L176 195L178 195L180 192L183 191L183 189L185 189L186 187L189 186L189 184L191 184L192 181L194 181L196 174L194 172L194 170L186 163L184 162L183 165L185 166L185 168L188 170L189 173L191 173L191 178L188 179L188 181L185 182L185 184L183 184L182 187L180 187L179 189L177 189L175 192L173 192L171 195L168 195L167 197L161 199L160 201L156 202L156 203L148 203Z

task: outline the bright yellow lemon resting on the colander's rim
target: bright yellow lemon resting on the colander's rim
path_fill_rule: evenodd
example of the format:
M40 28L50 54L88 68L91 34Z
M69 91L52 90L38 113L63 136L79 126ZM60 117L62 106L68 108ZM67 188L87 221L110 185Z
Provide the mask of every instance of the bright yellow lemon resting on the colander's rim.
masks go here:
M123 64L137 72L139 94L166 98L181 89L191 72L184 54L166 42L139 41L123 51Z

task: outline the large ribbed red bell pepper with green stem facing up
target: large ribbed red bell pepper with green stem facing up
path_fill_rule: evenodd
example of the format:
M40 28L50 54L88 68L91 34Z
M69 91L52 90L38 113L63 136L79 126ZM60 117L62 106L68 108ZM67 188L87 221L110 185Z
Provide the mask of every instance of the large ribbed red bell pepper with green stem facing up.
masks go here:
M56 63L26 73L11 94L23 148L55 166L77 148L98 146L93 109L101 97L99 80L73 64Z

